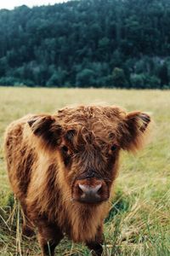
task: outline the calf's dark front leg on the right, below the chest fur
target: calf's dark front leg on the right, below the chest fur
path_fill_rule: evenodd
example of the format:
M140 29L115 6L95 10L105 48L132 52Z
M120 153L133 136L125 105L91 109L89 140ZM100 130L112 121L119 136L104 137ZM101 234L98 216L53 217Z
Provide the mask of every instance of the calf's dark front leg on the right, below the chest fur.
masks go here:
M99 227L94 241L88 241L86 243L88 248L92 251L92 255L94 255L94 256L102 255L102 253L103 253L103 247L102 247L103 241L104 241L103 228Z

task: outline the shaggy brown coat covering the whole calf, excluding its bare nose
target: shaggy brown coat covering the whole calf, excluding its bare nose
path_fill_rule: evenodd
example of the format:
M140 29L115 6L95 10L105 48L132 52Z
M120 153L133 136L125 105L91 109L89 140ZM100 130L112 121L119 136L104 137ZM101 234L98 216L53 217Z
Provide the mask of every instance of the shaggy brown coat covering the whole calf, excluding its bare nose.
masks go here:
M8 177L25 213L23 231L37 227L42 255L66 234L101 255L103 221L120 149L142 148L150 116L118 107L64 108L27 115L8 126ZM99 202L81 202L80 186L101 187ZM48 244L49 243L49 244Z

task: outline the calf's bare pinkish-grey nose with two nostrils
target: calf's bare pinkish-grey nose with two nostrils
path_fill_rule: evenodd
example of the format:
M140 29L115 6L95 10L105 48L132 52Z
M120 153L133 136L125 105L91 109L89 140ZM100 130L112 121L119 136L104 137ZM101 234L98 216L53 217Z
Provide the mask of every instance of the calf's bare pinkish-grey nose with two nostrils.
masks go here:
M80 201L87 203L97 203L101 201L99 191L102 188L102 183L99 183L93 187L79 183L78 187L81 193Z

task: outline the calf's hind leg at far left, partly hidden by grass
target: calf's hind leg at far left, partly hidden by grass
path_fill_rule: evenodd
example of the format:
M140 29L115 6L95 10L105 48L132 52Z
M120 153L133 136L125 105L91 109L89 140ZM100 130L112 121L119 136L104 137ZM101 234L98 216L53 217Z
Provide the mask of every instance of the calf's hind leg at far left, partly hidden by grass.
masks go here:
M26 204L24 202L20 203L22 212L23 212L23 224L22 224L22 234L24 236L33 236L35 235L34 226L31 223L29 216L26 211Z

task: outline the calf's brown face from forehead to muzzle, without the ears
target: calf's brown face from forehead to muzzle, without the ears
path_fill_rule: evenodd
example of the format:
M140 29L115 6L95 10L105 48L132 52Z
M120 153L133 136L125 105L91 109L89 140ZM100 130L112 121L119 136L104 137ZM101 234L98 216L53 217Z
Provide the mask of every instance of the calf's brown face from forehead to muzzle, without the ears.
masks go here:
M120 145L109 134L103 137L104 126L88 122L65 133L59 146L63 172L71 186L74 201L99 203L109 198L111 183L116 177ZM98 126L98 127L97 127ZM99 131L95 131L95 129ZM105 131L106 132L106 131ZM112 134L111 134L112 136Z

